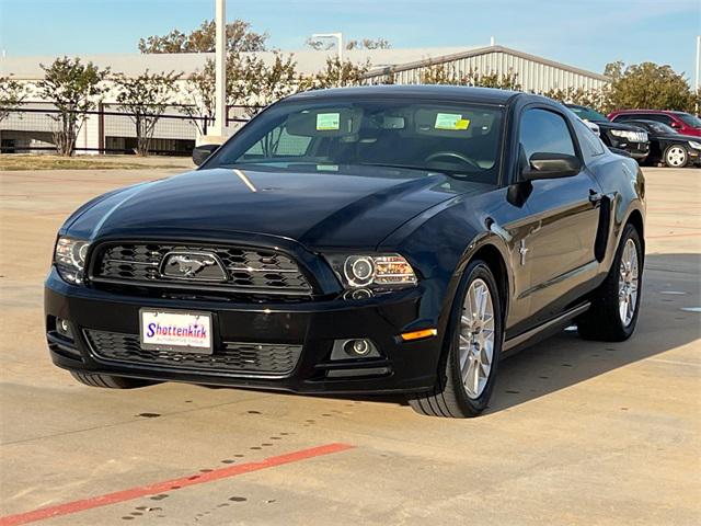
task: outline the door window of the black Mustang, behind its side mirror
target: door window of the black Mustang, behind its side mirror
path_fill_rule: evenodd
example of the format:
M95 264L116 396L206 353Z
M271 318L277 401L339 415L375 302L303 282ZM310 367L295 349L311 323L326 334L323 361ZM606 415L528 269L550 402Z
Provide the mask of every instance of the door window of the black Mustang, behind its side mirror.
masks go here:
M575 155L564 117L548 110L526 110L519 140L527 159L536 152Z

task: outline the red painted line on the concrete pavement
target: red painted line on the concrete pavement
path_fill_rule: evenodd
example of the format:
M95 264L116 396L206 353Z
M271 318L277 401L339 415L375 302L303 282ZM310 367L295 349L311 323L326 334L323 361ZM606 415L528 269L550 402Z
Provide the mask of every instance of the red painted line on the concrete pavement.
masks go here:
M182 477L180 479L165 480L162 482L154 482L149 485L141 485L137 488L130 488L128 490L116 491L114 493L107 493L104 495L91 496L82 501L67 502L65 504L58 504L56 506L41 507L31 512L19 513L16 515L8 515L5 517L0 517L0 526L15 526L19 524L43 521L45 518L58 517L60 515L84 512L85 510L107 506L110 504L117 504L124 501L131 501L134 499L139 499L146 495L153 495L166 491L180 490L182 488L187 488L188 485L204 484L205 482L214 482L216 480L235 477L238 474L274 468L276 466L283 466L285 464L298 462L308 458L319 457L322 455L331 455L332 453L345 451L347 449L353 449L354 447L355 446L350 446L348 444L325 444L323 446L312 447L310 449L301 449L299 451L287 453L277 457L269 457L257 462L246 462L239 466L230 466L227 468L215 469L214 471L208 471L206 473L195 473L189 477Z

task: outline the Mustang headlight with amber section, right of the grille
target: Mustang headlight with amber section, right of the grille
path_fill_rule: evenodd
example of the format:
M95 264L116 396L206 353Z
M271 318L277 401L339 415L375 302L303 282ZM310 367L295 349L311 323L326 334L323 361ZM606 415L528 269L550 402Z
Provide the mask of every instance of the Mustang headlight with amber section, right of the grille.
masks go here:
M389 290L416 285L414 270L399 254L326 255L326 260L347 289Z

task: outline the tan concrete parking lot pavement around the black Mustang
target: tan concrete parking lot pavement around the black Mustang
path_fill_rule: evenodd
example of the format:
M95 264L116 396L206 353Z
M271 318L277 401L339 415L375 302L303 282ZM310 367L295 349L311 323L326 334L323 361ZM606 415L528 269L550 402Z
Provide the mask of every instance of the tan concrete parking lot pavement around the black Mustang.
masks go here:
M634 338L563 332L509 358L464 421L398 399L91 389L54 367L56 229L177 171L0 173L0 525L701 524L701 170L645 169Z

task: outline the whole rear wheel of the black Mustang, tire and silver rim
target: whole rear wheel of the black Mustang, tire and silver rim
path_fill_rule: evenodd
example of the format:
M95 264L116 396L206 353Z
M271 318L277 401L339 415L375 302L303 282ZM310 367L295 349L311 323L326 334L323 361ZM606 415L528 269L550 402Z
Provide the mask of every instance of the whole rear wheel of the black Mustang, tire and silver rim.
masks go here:
M627 225L606 281L591 297L591 307L577 320L586 340L621 342L635 330L643 284L643 248L637 230Z

